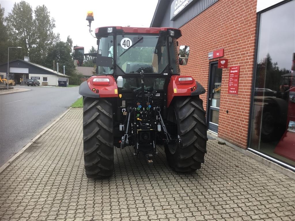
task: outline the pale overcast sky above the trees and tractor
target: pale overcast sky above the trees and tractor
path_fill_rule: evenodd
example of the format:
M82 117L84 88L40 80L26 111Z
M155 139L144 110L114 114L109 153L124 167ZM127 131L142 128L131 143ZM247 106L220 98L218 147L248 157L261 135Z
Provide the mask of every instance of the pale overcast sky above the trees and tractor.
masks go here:
M0 0L5 9L4 16L11 12L15 0ZM68 35L73 39L73 45L84 46L88 52L91 46L97 47L96 39L89 33L86 21L87 11L93 11L94 21L91 23L93 33L95 28L103 26L150 27L158 0L27 0L34 10L38 5L45 5L50 16L55 19L54 32L60 33L60 39L66 41Z

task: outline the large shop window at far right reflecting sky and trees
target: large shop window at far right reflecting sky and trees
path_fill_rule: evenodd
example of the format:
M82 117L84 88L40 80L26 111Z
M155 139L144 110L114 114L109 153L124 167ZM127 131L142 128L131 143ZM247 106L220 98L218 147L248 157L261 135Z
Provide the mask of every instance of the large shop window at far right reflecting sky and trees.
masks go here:
M250 148L295 166L295 0L261 13ZM293 27L293 28L292 28Z

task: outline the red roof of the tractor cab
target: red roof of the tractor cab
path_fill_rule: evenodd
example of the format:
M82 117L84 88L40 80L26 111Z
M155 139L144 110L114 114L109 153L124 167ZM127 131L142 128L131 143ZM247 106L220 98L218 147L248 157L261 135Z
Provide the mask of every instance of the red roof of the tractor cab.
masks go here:
M124 33L138 33L138 34L159 34L161 31L175 30L177 32L176 38L181 37L180 29L176 28L143 28L143 27L121 27L121 26L108 26L108 27L99 27L95 29L95 35L97 38L107 34L107 29L112 28L112 32L124 32Z

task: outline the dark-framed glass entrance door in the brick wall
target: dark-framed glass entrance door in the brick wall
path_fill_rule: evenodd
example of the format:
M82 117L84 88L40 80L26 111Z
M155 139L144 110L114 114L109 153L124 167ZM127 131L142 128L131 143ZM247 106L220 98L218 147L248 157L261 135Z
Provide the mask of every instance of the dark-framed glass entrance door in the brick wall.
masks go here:
M218 132L220 92L222 69L217 67L217 63L210 65L207 123L208 129ZM208 114L209 113L209 114Z

